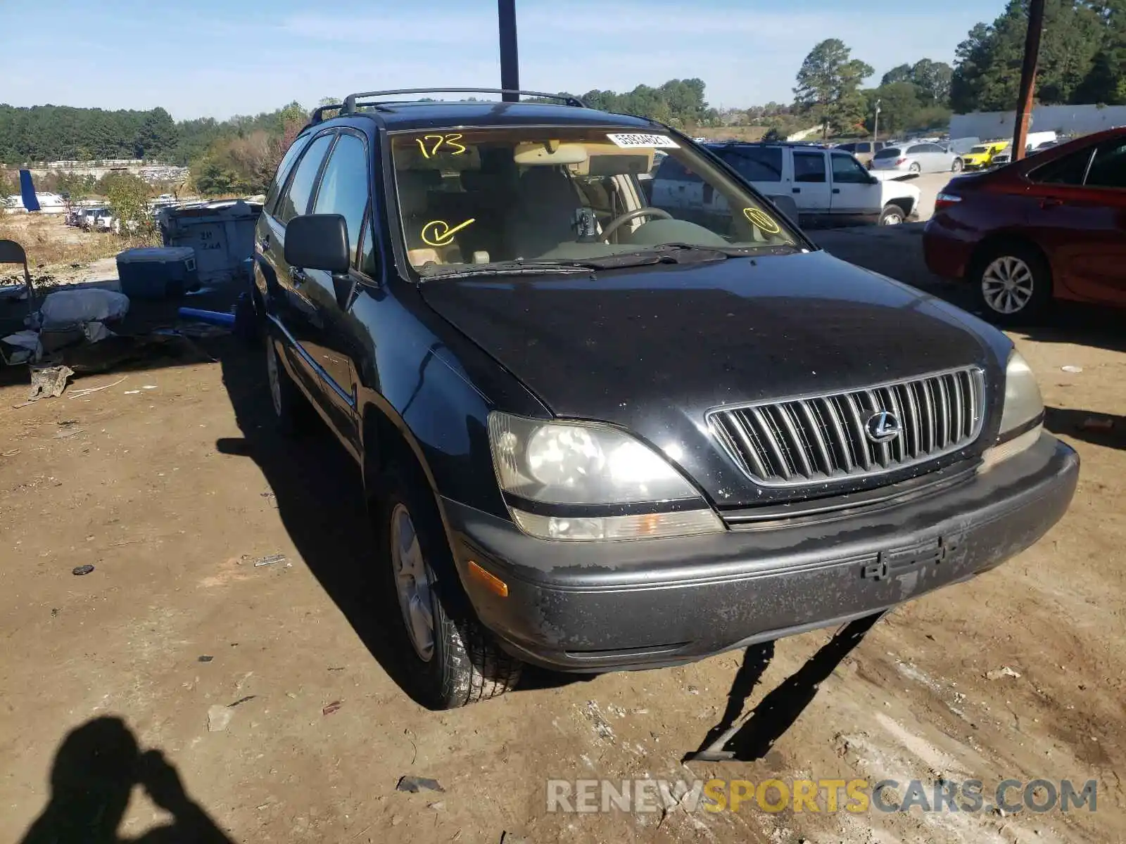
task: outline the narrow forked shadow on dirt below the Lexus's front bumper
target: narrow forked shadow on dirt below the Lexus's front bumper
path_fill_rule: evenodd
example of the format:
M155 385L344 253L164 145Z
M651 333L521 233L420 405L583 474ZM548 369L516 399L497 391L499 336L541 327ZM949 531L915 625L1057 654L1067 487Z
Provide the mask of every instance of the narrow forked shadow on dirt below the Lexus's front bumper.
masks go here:
M774 658L772 641L751 645L735 673L727 693L727 707L720 721L708 730L699 749L682 762L756 762L765 758L786 730L794 726L810 706L821 683L864 640L884 613L865 616L844 625L810 657L801 668L769 691L739 726L739 717L751 692Z

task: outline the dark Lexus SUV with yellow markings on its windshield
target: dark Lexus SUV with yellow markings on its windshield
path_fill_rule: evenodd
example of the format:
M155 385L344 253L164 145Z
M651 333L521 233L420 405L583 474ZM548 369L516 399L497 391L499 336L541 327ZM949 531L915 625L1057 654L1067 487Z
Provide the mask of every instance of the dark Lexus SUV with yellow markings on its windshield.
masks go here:
M278 422L315 410L363 469L430 706L870 616L1066 510L1079 460L1004 334L667 126L417 93L314 113L253 304ZM711 201L650 205L660 153Z

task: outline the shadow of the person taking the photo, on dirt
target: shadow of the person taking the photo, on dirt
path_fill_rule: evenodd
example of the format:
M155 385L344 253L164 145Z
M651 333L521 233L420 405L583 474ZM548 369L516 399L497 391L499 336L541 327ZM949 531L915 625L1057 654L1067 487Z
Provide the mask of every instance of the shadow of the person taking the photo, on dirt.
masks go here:
M172 816L138 837L120 837L134 787ZM51 766L51 799L20 844L233 844L185 791L176 767L157 749L142 751L119 718L71 730Z

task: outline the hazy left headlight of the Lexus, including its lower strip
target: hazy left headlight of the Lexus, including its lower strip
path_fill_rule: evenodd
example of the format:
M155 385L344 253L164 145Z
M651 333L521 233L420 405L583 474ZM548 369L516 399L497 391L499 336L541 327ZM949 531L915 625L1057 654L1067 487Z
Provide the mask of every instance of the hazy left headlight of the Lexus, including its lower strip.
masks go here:
M509 505L516 523L531 536L644 539L723 530L668 460L615 428L493 412L489 441L501 490L528 502L525 509ZM616 505L658 503L652 510L665 512L609 512ZM597 512L601 506L608 512Z

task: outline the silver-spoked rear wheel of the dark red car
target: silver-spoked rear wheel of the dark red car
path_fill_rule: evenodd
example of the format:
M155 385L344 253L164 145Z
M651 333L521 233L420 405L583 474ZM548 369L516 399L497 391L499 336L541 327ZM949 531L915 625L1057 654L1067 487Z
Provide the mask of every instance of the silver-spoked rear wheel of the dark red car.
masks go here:
M985 318L999 325L1042 317L1052 300L1052 268L1044 255L1024 243L1003 243L974 263L974 293Z

